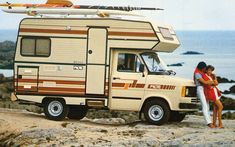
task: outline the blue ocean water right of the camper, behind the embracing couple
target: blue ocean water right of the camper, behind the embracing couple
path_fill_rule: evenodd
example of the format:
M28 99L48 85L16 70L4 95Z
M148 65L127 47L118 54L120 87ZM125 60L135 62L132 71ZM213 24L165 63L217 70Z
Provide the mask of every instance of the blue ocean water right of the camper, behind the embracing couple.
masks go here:
M173 53L159 53L166 64L184 63L169 67L176 75L192 79L198 62L215 67L215 74L235 81L235 31L177 31L181 46ZM197 51L203 55L182 55Z

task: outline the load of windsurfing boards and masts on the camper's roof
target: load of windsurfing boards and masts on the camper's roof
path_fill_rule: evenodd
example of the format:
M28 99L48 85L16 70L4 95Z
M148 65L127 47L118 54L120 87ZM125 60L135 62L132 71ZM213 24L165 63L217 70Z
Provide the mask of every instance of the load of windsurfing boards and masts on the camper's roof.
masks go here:
M98 15L109 16L141 16L133 11L163 10L160 8L130 7L130 6L99 6L99 5L74 5L69 0L48 0L45 4L0 4L7 13L28 14L32 16L52 15Z

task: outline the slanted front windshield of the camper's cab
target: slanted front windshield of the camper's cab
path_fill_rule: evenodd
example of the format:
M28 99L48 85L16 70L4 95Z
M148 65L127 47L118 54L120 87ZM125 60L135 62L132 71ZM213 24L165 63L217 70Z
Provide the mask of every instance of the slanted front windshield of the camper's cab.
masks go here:
M154 52L147 52L141 54L149 72L159 73L168 70L166 64Z

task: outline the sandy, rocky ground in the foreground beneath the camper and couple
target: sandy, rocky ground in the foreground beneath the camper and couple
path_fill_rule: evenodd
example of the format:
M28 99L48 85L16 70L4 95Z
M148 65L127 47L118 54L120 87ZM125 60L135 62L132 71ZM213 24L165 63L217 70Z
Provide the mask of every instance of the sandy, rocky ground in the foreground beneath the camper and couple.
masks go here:
M0 146L235 146L235 120L210 129L201 116L163 126L121 118L50 121L43 114L0 109Z

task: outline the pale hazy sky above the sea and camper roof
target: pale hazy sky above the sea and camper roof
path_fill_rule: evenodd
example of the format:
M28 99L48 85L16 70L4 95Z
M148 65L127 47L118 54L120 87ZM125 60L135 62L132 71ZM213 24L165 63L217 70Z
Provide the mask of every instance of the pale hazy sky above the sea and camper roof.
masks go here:
M175 30L235 30L235 0L74 0L75 4L158 7L140 12L146 19ZM46 0L0 0L0 3L45 3ZM27 15L0 11L0 29L17 29Z

